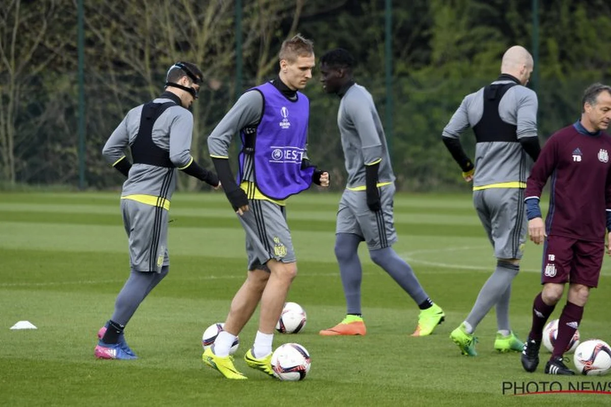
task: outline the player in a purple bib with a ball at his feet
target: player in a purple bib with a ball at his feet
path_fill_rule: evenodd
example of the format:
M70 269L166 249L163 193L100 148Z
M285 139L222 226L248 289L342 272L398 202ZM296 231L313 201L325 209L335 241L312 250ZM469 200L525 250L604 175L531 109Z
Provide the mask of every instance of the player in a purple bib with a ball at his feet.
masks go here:
M286 220L286 199L310 187L327 187L329 174L307 157L310 103L298 92L312 78L312 41L301 35L285 40L276 79L244 93L208 137L208 149L227 199L246 231L248 275L238 290L203 361L230 379L245 379L229 356L235 337L261 302L254 345L244 359L249 367L273 375L272 341L291 281L297 274L295 250ZM229 166L229 145L240 132L238 182Z

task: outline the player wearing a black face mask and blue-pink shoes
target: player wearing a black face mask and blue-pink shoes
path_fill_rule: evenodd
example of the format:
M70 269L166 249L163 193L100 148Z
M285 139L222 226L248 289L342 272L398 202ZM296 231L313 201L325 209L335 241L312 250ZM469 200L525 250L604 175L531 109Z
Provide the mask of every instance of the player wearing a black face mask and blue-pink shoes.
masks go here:
M218 188L219 179L200 167L190 153L193 115L202 71L177 62L167 71L165 92L131 109L112 132L104 158L127 177L121 193L123 225L130 246L130 277L119 292L111 319L98 332L95 356L136 359L123 330L148 293L167 275L167 222L177 171ZM133 165L125 157L131 149Z

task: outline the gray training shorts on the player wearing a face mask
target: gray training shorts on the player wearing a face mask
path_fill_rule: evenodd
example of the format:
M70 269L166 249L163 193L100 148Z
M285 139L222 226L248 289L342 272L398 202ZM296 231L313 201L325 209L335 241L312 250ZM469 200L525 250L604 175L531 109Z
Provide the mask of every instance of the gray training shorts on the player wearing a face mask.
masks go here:
M130 244L131 270L160 273L161 267L170 264L167 253L167 210L122 199L121 211Z

